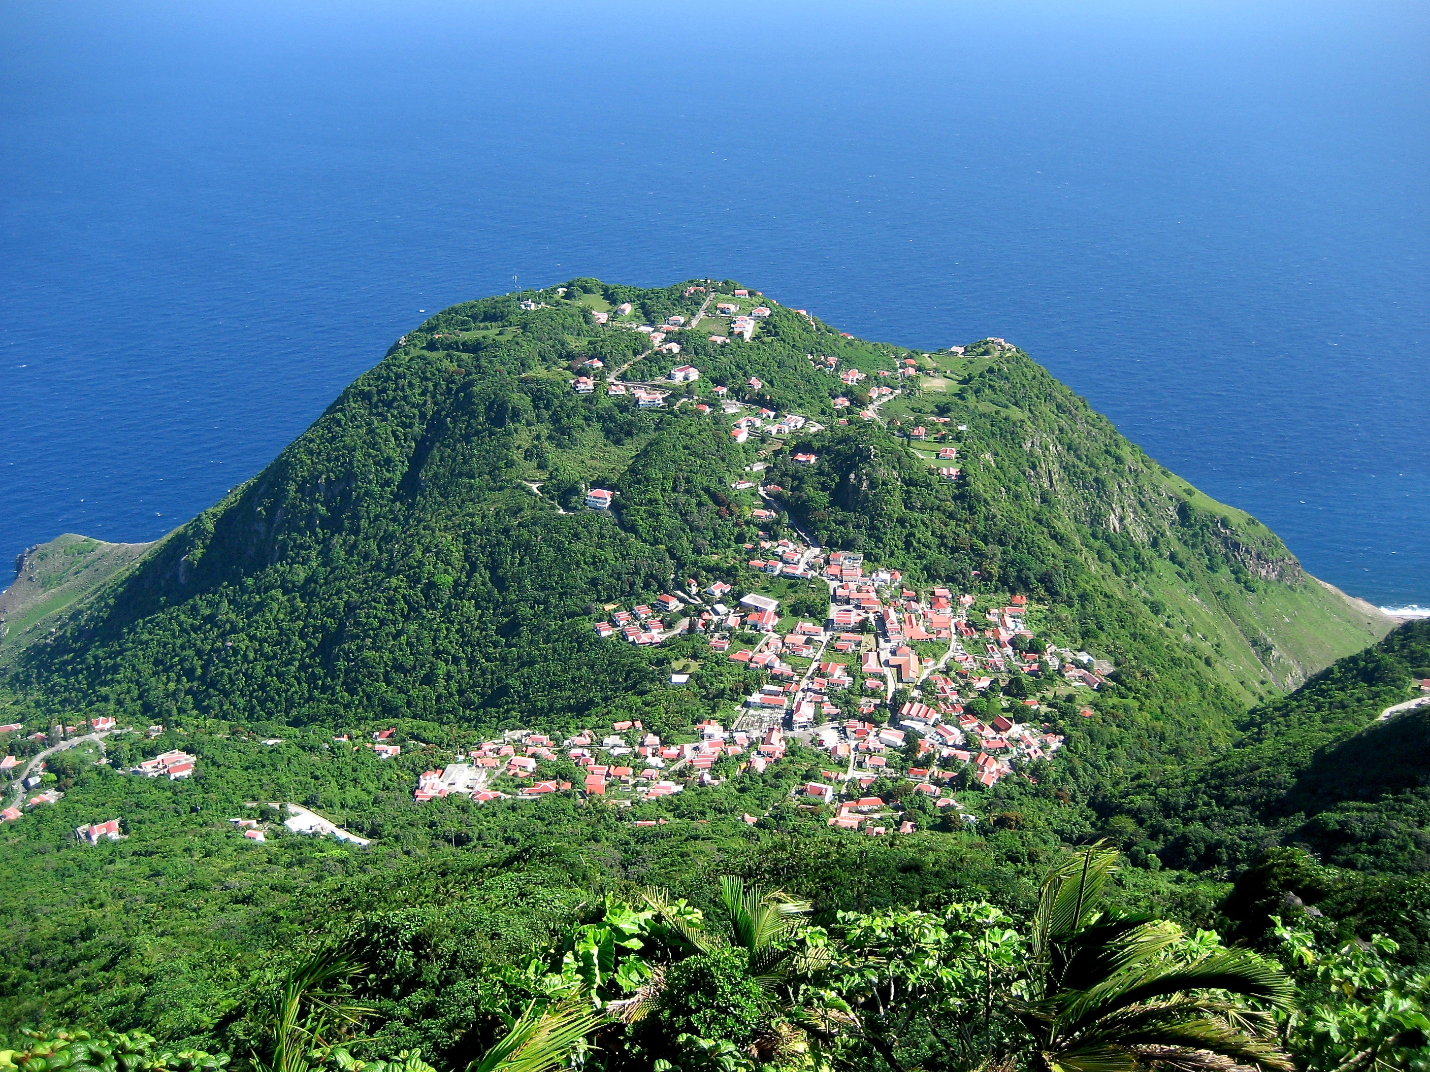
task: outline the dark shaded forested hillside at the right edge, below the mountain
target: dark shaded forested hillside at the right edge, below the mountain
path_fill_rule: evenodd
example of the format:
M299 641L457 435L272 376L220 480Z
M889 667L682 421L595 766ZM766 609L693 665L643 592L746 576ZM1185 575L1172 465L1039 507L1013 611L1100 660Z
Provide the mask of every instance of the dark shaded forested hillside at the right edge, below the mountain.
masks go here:
M1123 806L1178 868L1241 870L1278 843L1369 872L1430 873L1430 622L1411 622L1240 720L1236 746Z

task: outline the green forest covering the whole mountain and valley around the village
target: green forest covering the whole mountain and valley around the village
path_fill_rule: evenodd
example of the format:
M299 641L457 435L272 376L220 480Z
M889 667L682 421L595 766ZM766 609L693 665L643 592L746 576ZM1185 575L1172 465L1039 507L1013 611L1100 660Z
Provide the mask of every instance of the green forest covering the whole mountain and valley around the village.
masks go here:
M1430 719L1377 716L1430 676L1430 626L1380 639L1389 620L1308 577L1274 533L1158 466L1014 347L928 354L778 304L749 340L678 333L678 356L633 330L738 289L578 279L443 310L223 502L137 563L116 556L87 587L74 582L46 610L53 633L0 639L0 723L21 726L11 755L36 755L47 742L29 736L53 723L140 730L110 736L104 755L51 755L40 788L63 796L0 826L11 1046L30 1045L26 1026L77 1026L277 1061L272 995L303 956L342 949L362 972L340 989L369 1011L346 1048L320 1055L335 1068L419 1049L456 1068L532 1026L523 1009L553 1002L555 1016L573 995L619 1009L652 975L664 983L646 1026L615 1029L609 1012L593 1036L605 1056L585 1061L1035 1066L1020 1041L1031 1021L991 1003L992 948L1005 993L1027 996L1017 951L1052 948L1038 946L1040 882L1070 846L1103 840L1120 853L1098 888L1107 919L1174 920L1168 956L1185 963L1218 956L1217 935L1250 943L1290 972L1307 1008L1326 1005L1321 1026L1283 1016L1271 1031L1301 1066L1336 1068L1373 1036L1377 1061L1426 1061L1410 1021L1377 1021L1344 995L1370 993L1373 979L1424 992ZM622 303L625 323L595 316L619 319ZM871 384L895 382L879 373L902 363L918 373L865 420L854 413L874 405L868 387L817 356ZM642 409L575 393L592 359L649 383L689 362L701 379ZM736 443L716 386L809 423ZM957 452L958 480L940 479L912 435L925 425L935 449ZM735 489L756 465L769 503ZM582 509L591 487L615 492L609 512ZM752 513L771 505L772 519ZM1035 676L1015 682L1020 696L1010 680L1010 702L1031 692L1065 743L1037 778L960 783L964 818L881 779L871 792L897 802L912 833L831 829L827 809L791 796L828 765L798 745L764 773L629 809L575 793L413 799L420 772L503 730L559 742L635 719L689 740L698 720L732 718L764 672L698 635L642 647L592 626L686 579L755 587L748 547L799 535L908 586L974 593L980 607L1021 593L1040 645L1115 669L1095 693ZM828 605L822 583L789 595ZM674 667L689 680L672 683ZM149 725L163 729L146 736ZM399 756L359 746L388 728ZM173 748L197 758L192 779L123 773ZM545 770L579 785L565 758ZM372 845L292 833L273 808L283 802ZM74 839L116 815L120 840ZM245 839L239 818L267 839ZM805 908L779 916L788 926L758 952L736 941L721 875ZM701 913L699 935L682 930L678 902ZM1389 938L1354 945L1374 935ZM828 953L812 952L821 943ZM778 985L751 968L758 958L782 965ZM898 991L922 995L922 1011L899 1021L881 1006L878 971L904 973ZM1326 1028L1343 1012L1358 1026ZM1326 1031L1344 1038L1331 1045Z

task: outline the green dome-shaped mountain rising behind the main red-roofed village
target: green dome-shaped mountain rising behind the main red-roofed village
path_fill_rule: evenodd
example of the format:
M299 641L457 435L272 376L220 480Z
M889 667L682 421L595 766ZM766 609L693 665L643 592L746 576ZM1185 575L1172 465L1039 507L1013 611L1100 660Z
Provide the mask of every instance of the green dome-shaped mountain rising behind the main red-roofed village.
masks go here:
M754 499L731 485L758 452L731 440L718 410L644 410L629 396L578 396L569 382L592 357L631 364L628 379L664 374L675 357L592 312L629 302L625 320L659 324L715 297L688 289L573 280L562 296L433 316L259 476L26 652L9 682L16 718L559 729L638 700L672 703L656 699L659 650L598 640L591 625L605 603L651 599L678 577L742 579L742 545L761 526ZM679 332L679 362L702 370L685 389L696 399L726 384L827 426L769 457L792 516L827 546L921 583L1037 599L1050 639L1117 663L1121 716L1145 718L1155 749L1223 740L1244 700L1294 686L1389 627L1020 350L984 342L925 354L768 307L748 342L709 342L731 330L709 317ZM872 377L865 384L892 382L877 373L911 357L918 374L879 420L839 426L832 399L849 392L858 406L867 387L851 390L811 354ZM901 439L935 416L958 429L955 485ZM801 449L819 463L785 460ZM579 509L589 485L618 492L612 516Z

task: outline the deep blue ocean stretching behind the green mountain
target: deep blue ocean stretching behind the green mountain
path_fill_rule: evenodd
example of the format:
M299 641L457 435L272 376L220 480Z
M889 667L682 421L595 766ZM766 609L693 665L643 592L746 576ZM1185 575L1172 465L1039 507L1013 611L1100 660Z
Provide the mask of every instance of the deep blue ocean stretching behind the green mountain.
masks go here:
M0 556L160 536L422 310L734 276L1430 606L1427 74L1420 1L3 0Z

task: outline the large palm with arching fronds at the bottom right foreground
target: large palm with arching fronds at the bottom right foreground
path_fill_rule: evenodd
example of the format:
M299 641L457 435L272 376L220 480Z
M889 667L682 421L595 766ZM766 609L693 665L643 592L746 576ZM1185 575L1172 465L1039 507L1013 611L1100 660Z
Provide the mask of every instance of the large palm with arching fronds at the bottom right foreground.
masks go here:
M1263 1005L1290 1005L1280 968L1247 949L1178 955L1174 923L1098 908L1117 869L1103 843L1042 882L1027 993L1011 1002L1034 1042L1035 1072L1291 1072Z

